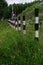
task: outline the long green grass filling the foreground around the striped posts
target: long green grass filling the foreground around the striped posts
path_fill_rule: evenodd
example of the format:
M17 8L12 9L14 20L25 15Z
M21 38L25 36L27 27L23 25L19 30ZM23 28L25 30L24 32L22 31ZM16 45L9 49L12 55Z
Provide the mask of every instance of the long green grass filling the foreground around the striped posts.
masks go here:
M41 8L43 2L37 4ZM27 9L31 11L34 6L35 4ZM27 9L25 11L29 14ZM39 14L40 21L43 19L41 12L42 10ZM43 65L43 25L40 24L37 41L34 37L34 17L26 18L26 22L28 23L26 35L11 28L6 21L0 22L0 65Z

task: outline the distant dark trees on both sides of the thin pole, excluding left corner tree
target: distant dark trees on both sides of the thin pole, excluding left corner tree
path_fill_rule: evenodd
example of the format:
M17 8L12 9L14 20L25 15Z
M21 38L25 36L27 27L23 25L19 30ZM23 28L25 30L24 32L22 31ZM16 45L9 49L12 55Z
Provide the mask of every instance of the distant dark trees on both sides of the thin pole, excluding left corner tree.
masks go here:
M18 14L20 14L23 10L25 10L27 7L31 6L30 3L25 3L25 4L13 4L13 11L16 14L16 16ZM12 5L8 6L9 10L12 11ZM11 12L9 11L9 13L11 14Z

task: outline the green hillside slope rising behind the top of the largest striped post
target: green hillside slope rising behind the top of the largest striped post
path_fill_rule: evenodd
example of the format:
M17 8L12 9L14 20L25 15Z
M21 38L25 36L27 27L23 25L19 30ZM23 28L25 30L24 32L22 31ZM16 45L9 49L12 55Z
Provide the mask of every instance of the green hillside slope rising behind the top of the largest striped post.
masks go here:
M35 8L39 8L39 19L40 21L43 21L43 2L37 2L33 4L32 6L26 8L21 14L18 16L23 16L25 15L26 20L34 20L34 10Z

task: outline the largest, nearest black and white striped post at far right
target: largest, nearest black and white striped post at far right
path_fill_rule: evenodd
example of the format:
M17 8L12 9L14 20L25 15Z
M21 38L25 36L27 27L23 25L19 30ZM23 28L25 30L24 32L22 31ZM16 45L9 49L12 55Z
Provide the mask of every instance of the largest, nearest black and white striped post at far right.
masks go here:
M39 38L39 9L35 8L35 39L38 40Z

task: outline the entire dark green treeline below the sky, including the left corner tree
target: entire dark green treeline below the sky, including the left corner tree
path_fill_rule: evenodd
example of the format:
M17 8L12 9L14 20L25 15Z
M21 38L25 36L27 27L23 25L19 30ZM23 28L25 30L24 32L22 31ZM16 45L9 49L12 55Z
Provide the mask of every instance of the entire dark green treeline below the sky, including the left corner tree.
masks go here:
M13 4L13 11L16 14L20 14L23 10L25 10L28 6L31 6L30 3L25 3L25 4ZM9 19L11 18L12 15L12 5L7 5L5 0L0 0L0 19Z

